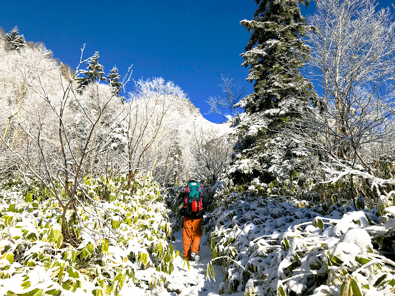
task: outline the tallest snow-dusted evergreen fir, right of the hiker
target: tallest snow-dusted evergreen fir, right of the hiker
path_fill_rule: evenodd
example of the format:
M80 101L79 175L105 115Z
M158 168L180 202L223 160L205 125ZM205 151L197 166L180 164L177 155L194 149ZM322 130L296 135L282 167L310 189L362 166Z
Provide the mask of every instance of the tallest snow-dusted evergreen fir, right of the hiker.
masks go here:
M303 0L302 0L303 1ZM246 112L238 124L239 141L230 175L236 184L259 178L269 183L290 178L303 170L299 143L281 133L296 124L300 112L316 96L300 68L310 54L301 37L314 27L305 24L298 0L255 0L258 9L252 21L240 23L252 32L241 54L243 66L250 66L246 80L254 92L238 103ZM308 0L307 3L308 4Z

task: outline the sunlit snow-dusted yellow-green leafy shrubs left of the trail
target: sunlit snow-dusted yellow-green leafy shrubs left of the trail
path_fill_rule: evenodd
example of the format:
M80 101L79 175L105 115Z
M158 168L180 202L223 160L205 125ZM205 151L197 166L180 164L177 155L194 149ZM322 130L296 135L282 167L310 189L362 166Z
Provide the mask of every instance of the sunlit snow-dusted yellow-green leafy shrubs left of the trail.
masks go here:
M60 207L48 190L17 179L2 184L0 294L141 294L166 281L174 252L158 185L141 175L134 195L124 175L85 185L90 191L75 205L76 219L72 210L66 215L80 242L72 247L63 242Z

